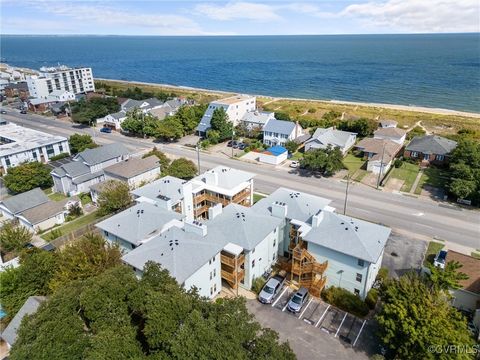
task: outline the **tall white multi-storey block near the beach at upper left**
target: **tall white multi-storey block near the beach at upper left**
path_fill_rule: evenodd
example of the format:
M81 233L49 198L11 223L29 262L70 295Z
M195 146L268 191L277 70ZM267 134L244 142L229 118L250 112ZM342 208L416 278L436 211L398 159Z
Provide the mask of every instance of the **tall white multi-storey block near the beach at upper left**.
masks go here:
M27 77L28 91L34 98L46 99L53 91L69 91L75 95L95 91L91 68L40 68L40 75Z

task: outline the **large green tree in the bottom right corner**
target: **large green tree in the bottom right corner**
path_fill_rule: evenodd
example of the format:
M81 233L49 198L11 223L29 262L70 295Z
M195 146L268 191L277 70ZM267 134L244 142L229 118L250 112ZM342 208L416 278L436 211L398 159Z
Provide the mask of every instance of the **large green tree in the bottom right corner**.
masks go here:
M392 358L437 359L429 346L472 344L463 315L450 306L443 293L427 286L421 275L412 272L387 280L380 296L379 335ZM466 353L454 357L470 359Z

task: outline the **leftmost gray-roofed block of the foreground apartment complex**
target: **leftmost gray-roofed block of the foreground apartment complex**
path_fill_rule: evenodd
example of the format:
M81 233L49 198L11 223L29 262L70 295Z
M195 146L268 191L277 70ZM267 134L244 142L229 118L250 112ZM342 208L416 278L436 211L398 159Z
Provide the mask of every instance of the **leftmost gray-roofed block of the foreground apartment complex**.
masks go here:
M138 203L95 226L105 239L120 246L123 252L135 249L171 226L182 226L183 216L150 203Z

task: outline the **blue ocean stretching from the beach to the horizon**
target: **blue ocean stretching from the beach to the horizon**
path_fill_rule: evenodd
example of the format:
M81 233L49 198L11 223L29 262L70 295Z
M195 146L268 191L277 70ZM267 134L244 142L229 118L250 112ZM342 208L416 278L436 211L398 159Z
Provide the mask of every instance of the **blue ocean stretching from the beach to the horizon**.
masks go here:
M1 60L94 77L480 112L479 34L0 37Z

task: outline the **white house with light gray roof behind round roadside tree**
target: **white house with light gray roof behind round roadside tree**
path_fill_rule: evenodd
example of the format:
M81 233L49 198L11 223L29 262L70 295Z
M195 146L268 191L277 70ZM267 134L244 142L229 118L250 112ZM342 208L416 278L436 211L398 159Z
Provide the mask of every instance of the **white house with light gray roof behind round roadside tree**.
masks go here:
M326 149L327 147L338 148L345 155L357 140L357 134L329 128L318 128L312 137L305 142L305 151L314 149Z

